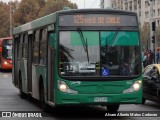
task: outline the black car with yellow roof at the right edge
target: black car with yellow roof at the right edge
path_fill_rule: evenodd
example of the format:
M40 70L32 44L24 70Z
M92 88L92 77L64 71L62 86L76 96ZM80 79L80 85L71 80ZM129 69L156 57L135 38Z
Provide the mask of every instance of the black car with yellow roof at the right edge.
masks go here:
M143 97L146 100L160 103L160 64L148 65L143 71Z

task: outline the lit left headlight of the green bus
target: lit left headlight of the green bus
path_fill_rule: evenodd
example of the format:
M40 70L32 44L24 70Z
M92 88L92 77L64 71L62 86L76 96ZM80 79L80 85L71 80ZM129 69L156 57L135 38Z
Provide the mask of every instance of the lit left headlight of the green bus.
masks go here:
M68 85L67 85L65 82L61 81L61 80L58 80L58 89L59 89L61 92L78 94L77 91L70 89L70 88L68 87Z

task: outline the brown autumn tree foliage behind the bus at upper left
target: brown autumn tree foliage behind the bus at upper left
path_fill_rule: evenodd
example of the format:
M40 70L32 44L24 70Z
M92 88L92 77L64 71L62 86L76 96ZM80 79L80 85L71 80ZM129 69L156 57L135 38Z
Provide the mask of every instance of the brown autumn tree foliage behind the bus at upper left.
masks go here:
M62 10L63 7L77 8L68 0L14 0L11 2L13 28L50 13ZM0 1L0 38L10 36L10 3Z

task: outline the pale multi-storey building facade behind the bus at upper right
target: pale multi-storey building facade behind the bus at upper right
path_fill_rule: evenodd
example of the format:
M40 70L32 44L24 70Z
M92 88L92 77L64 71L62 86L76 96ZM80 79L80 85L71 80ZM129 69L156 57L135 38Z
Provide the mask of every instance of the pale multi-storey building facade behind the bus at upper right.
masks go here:
M118 10L128 10L137 12L140 25L143 26L150 21L150 5L151 0L101 0L101 4L109 1L111 7ZM153 21L156 22L156 26L160 26L160 0L152 0L153 3ZM103 7L103 5L102 5ZM104 7L105 8L105 4Z

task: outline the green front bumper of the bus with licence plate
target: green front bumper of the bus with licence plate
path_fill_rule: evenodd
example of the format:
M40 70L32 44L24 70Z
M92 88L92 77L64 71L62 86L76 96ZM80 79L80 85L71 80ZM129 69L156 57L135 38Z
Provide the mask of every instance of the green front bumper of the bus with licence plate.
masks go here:
M66 94L58 92L55 104L57 105L71 105L71 104L141 104L142 91L124 94Z

